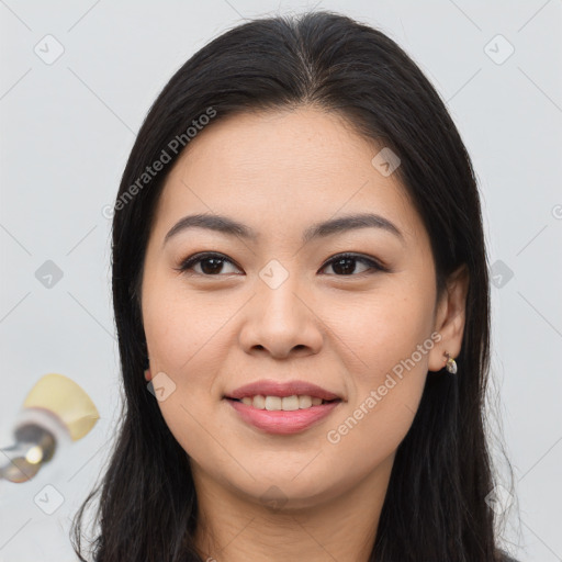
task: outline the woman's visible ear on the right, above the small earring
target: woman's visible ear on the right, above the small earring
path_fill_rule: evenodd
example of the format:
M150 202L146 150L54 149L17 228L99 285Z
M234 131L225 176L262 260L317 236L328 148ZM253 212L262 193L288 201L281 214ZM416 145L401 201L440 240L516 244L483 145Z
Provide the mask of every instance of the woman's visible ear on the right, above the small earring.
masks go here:
M428 368L430 371L440 371L445 367L446 351L453 359L461 351L469 282L469 270L464 263L447 280L447 289L436 306L434 331L437 331L441 339L429 352Z

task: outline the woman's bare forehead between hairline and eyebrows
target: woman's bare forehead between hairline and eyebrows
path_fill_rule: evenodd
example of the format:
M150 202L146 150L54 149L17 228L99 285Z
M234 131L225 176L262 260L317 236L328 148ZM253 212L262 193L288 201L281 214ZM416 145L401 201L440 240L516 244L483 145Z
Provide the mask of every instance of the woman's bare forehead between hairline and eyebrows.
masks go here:
M405 235L423 236L397 175L383 176L372 164L382 146L340 115L300 108L216 120L168 176L157 210L161 228L188 212L220 213L279 236L288 225L304 231L338 214L373 212Z

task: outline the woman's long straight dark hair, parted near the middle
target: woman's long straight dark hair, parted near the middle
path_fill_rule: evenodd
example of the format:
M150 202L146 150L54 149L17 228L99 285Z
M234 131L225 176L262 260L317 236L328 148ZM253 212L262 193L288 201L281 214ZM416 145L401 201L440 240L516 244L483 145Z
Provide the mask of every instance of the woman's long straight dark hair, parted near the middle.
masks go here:
M147 350L139 286L145 249L167 173L202 124L212 127L227 115L303 104L338 112L364 138L400 156L396 173L431 241L438 295L460 266L470 276L459 373L427 378L413 425L396 451L370 560L497 560L494 513L486 501L494 483L484 431L488 273L470 157L443 101L394 41L347 16L312 12L254 20L209 43L166 85L138 133L112 232L113 306L125 396L103 480L74 521L74 548L82 561L83 510L100 488L94 560L201 561L193 543L198 498L188 456L143 376ZM158 160L166 160L164 169L150 179L143 176Z

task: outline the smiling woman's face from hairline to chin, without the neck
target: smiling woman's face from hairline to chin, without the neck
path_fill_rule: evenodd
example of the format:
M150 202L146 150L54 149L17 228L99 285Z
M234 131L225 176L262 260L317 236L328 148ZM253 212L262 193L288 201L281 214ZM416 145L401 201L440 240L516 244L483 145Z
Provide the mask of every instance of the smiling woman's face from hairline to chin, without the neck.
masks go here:
M387 474L428 369L458 351L439 342L429 239L392 167L372 162L380 148L334 113L244 114L200 132L167 178L142 310L159 407L195 484L302 507ZM364 214L378 217L344 221ZM189 215L255 236L216 218L173 228ZM218 256L180 270L201 252ZM294 381L338 401L317 405ZM236 393L262 382L277 386ZM248 393L271 397L232 400Z

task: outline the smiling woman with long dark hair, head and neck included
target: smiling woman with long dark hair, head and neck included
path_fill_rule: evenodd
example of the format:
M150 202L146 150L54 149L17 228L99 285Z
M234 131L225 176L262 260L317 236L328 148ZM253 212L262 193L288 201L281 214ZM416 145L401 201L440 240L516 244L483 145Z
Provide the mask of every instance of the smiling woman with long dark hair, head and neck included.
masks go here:
M122 178L113 299L94 560L509 560L476 182L383 33L262 19L190 58Z

